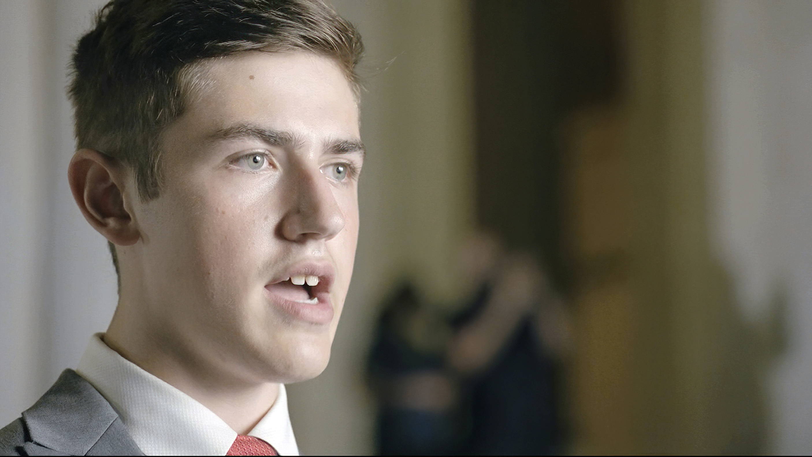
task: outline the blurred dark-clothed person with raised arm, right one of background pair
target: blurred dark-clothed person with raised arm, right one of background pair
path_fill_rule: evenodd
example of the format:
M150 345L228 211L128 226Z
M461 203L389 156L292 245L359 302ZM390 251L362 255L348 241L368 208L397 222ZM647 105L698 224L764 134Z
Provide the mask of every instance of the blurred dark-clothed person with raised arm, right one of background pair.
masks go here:
M467 422L460 453L563 451L559 377L569 323L559 295L532 257L504 253L493 235L474 235L461 260L475 292L452 320L447 353Z

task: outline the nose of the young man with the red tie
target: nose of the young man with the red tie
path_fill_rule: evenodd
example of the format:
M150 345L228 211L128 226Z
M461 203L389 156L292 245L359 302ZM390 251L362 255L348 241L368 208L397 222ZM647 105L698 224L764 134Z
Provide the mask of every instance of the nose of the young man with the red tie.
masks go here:
M280 223L281 235L297 243L333 238L345 223L333 184L321 170L303 166L298 171L287 186L290 205Z

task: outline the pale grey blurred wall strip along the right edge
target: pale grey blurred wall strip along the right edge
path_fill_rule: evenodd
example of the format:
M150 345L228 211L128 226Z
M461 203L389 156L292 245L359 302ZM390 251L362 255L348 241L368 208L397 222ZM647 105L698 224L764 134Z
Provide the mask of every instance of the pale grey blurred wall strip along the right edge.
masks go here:
M775 327L767 451L810 454L812 2L705 6L711 236L741 315Z

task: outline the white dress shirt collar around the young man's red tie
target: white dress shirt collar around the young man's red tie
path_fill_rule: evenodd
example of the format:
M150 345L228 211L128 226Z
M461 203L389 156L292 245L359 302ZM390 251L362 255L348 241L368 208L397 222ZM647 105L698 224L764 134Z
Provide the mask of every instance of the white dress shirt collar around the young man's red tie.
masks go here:
M119 413L146 455L226 455L237 433L197 400L140 369L94 334L76 368ZM285 386L248 435L274 446L279 455L299 455L287 414Z

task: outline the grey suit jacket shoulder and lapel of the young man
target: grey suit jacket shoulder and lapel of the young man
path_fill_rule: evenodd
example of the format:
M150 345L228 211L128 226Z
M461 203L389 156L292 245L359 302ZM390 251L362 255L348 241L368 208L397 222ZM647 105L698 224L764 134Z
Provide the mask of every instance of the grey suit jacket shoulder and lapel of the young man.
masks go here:
M144 455L110 403L72 369L0 429L0 455Z

